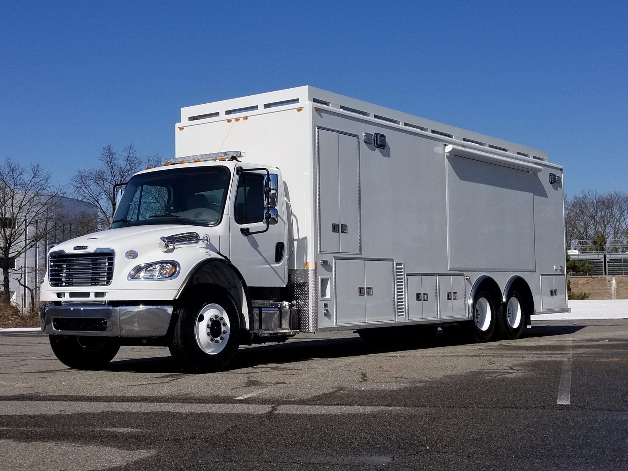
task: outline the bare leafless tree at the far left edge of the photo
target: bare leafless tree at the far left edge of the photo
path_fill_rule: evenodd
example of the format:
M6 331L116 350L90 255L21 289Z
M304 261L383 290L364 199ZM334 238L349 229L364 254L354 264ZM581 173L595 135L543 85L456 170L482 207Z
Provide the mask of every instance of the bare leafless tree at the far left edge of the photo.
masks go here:
M58 217L62 187L39 165L26 167L12 159L0 164L0 269L2 300L9 303L9 273L16 259L48 236L48 224L40 220Z

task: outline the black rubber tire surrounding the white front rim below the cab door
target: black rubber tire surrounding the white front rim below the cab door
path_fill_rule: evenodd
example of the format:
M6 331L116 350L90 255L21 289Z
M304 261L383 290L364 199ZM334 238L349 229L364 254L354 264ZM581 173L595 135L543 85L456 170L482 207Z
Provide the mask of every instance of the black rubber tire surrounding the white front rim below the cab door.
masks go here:
M204 316L201 318L201 313L203 308L209 305L220 306L229 321L229 336L224 340L226 344L224 347L221 346L222 350L217 353L207 353L200 347L196 338L197 323L207 323L208 321ZM238 338L240 318L232 298L224 293L207 293L207 290L195 290L185 298L183 305L175 311L175 314L177 316L176 324L169 348L170 354L181 370L198 374L224 369L240 346ZM209 332L210 327L207 323L207 336L213 338ZM215 340L219 340L219 338L216 337Z

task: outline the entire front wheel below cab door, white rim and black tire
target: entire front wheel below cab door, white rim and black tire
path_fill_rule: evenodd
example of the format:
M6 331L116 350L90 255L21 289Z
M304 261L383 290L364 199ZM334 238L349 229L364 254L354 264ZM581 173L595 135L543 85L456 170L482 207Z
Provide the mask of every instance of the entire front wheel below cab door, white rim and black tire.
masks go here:
M229 296L197 293L177 315L170 354L179 367L189 373L224 368L239 347L239 317Z

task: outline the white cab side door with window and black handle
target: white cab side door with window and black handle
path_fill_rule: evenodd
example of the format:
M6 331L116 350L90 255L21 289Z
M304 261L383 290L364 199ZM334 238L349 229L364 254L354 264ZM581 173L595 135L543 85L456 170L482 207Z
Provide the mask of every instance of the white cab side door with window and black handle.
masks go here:
M266 171L236 175L229 202L229 259L248 286L286 286L288 277L283 185L279 170L269 171L271 187L278 192L276 224L267 226L264 222L268 209L264 196ZM247 230L250 235L246 235Z

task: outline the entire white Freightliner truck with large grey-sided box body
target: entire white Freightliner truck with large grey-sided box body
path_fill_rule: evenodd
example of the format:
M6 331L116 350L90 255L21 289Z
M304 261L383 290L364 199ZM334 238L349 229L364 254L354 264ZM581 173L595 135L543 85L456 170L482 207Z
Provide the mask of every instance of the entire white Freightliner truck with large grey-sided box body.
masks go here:
M182 108L175 136L111 229L48 255L41 329L70 367L167 345L205 372L340 329L485 342L568 309L563 169L543 151L308 86Z

